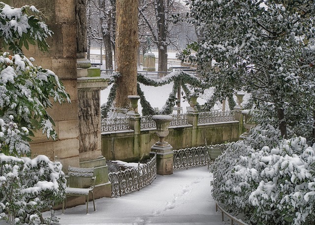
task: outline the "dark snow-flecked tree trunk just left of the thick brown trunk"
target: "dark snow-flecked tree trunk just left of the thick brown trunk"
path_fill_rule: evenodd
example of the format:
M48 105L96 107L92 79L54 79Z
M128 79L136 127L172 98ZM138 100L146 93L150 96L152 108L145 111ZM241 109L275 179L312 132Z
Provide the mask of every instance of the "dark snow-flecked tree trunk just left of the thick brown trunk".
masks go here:
M105 0L98 0L98 6L103 9L100 10L99 20L101 24L102 38L105 48L105 69L113 69L113 47L110 40L111 27L113 23L113 18L111 16L111 11L106 11Z

